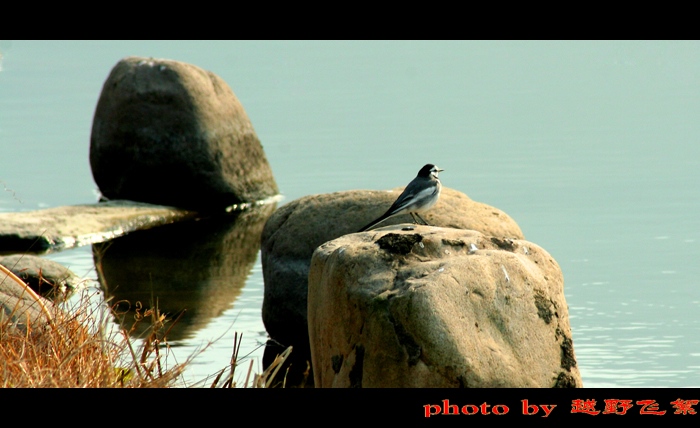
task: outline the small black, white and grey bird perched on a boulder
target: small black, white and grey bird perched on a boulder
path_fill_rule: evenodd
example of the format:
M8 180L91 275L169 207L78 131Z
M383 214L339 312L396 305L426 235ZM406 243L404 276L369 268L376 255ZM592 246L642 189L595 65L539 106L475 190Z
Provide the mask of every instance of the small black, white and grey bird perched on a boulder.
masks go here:
M418 213L432 208L440 197L442 184L440 184L440 180L437 177L440 171L444 170L430 163L421 168L416 178L408 183L408 186L391 205L391 208L381 217L360 229L360 232L374 227L389 217L405 213L411 214L414 223L418 224L417 216L427 226L428 222L423 220Z

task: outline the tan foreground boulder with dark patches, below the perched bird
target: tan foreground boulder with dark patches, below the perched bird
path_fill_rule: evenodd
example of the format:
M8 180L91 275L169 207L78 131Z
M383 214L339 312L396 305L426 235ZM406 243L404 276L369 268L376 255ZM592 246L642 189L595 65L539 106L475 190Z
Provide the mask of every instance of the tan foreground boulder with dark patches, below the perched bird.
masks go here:
M581 387L564 280L539 246L398 226L319 247L317 387Z

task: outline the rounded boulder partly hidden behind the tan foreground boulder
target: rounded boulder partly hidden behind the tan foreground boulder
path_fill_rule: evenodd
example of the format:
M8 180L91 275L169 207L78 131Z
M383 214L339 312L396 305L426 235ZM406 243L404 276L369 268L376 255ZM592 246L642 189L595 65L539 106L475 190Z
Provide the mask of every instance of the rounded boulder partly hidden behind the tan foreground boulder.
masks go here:
M261 238L265 280L262 315L272 339L266 350L267 363L276 353L293 345L290 361L296 368L306 369L305 362L310 360L307 287L314 250L325 242L357 232L383 214L402 190L311 195L272 214ZM447 187L443 187L439 202L422 217L436 226L473 229L497 237L523 237L515 221L503 211ZM379 227L412 222L406 214L390 218Z

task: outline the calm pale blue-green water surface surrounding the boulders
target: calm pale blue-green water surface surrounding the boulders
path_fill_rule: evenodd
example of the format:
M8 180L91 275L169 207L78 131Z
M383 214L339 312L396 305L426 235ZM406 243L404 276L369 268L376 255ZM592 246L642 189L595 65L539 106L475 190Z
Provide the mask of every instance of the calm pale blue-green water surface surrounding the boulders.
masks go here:
M92 116L129 55L189 62L243 103L285 201L387 189L427 162L503 209L565 277L589 387L700 386L700 43L0 41L0 210L92 203ZM183 189L192 191L192 189ZM283 202L284 203L284 202ZM96 279L90 248L48 256ZM176 340L187 376L259 367L259 256Z

